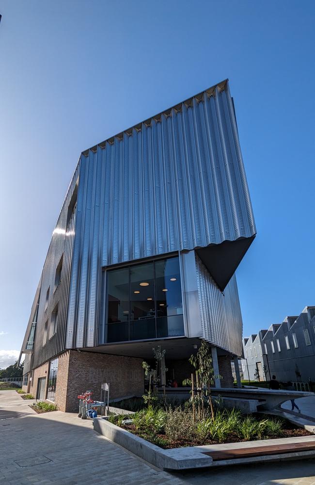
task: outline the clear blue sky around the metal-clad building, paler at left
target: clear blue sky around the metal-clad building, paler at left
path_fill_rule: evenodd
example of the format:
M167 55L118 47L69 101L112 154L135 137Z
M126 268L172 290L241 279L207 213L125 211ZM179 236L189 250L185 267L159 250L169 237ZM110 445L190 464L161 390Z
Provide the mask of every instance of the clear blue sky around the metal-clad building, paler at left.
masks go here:
M0 350L19 350L79 154L230 80L257 237L244 335L315 305L315 2L1 0ZM0 361L1 367L1 361Z

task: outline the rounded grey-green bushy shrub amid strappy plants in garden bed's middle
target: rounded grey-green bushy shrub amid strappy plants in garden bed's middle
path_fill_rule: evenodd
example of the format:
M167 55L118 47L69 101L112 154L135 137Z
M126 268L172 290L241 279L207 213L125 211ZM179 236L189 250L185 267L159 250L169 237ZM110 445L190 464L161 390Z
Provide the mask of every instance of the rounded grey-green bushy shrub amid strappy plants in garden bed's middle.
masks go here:
M195 435L191 413L187 410L183 411L180 407L167 410L164 429L166 437L172 441L181 438L192 439Z

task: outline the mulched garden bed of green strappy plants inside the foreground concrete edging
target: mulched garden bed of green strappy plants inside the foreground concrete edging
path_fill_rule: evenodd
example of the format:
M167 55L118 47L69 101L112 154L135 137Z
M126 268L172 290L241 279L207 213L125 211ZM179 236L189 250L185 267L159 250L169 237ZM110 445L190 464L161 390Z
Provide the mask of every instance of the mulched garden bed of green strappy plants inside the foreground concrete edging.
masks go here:
M134 415L110 417L113 424L164 450L312 435L287 420L258 413L242 415L234 409L217 410L214 419L195 417L195 421L191 411L180 407L166 411L151 407Z

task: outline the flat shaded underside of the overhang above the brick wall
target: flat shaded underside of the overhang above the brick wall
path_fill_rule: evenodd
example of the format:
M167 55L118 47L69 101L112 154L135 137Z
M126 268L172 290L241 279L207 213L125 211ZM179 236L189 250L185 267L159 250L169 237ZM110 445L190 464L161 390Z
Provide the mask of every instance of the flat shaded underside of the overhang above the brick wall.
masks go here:
M88 347L79 349L81 352L96 352L99 354L109 354L114 356L140 357L150 359L153 357L152 348L160 345L166 350L165 358L168 359L187 359L191 354L195 354L199 348L201 339L188 339L186 337L178 339L146 340L141 342L124 342L115 344L105 344L98 347ZM78 350L78 349L77 349ZM218 355L227 355L228 352L217 348Z

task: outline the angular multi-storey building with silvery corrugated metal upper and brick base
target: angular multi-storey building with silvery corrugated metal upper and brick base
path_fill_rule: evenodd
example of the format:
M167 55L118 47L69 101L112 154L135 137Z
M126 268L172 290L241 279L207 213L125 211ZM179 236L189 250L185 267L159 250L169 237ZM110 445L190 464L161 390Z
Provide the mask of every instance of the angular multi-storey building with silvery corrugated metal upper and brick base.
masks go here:
M235 271L254 236L227 81L85 150L31 308L24 387L62 410L104 382L141 395L152 347L180 384L200 339L230 385Z

